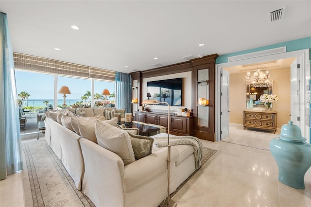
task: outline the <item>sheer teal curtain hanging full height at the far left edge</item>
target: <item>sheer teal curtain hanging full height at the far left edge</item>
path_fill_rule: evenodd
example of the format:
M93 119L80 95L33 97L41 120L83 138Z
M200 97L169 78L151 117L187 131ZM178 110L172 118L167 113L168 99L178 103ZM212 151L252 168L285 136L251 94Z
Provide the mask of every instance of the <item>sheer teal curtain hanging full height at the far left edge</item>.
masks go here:
M13 50L6 14L0 12L0 180L23 170Z

